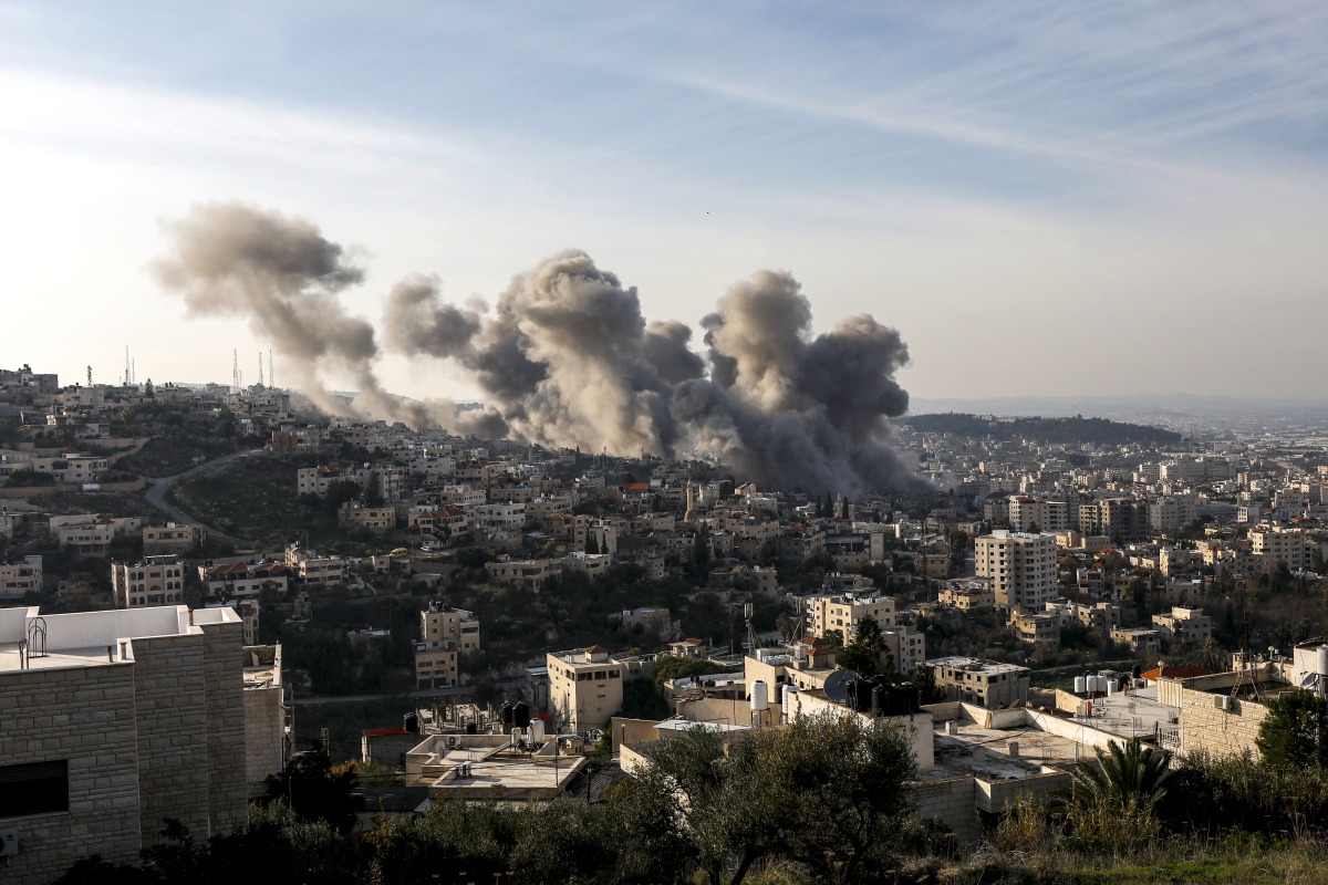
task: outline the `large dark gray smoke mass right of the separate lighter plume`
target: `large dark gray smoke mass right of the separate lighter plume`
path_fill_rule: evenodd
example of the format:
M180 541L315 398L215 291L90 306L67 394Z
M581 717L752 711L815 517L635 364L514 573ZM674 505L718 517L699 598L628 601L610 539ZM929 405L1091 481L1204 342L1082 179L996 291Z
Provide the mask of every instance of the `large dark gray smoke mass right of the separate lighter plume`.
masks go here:
M408 283L386 322L408 353L471 370L529 442L671 456L695 447L785 488L923 484L887 441L884 419L908 409L894 379L908 350L894 329L858 316L811 338L797 280L769 271L717 306L701 322L703 360L691 328L647 324L635 289L564 252L513 280L487 320L445 304L436 283Z

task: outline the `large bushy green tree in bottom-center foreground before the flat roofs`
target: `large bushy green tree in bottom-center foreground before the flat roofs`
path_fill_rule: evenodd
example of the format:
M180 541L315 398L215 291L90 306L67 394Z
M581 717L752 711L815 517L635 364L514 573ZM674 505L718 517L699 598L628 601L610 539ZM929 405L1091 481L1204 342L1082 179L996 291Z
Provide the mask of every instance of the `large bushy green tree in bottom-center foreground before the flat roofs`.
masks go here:
M914 775L908 739L884 720L826 713L736 739L697 727L652 748L623 816L710 885L777 857L815 881L874 880L892 862Z

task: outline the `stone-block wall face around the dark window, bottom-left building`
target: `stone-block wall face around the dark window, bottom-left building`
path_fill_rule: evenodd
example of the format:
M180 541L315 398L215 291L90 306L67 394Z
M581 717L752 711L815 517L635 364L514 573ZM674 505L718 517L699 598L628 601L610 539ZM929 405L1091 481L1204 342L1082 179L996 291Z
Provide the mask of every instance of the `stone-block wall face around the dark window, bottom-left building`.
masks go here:
M69 763L69 812L5 817L20 851L7 885L48 882L80 856L138 860L137 665L0 673L0 760Z

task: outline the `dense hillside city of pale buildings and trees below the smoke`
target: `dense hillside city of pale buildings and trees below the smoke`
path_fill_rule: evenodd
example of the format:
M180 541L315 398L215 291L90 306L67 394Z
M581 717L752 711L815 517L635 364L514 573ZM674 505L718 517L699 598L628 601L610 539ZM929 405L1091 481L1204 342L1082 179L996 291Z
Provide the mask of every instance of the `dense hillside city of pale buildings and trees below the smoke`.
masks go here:
M834 492L0 370L0 870L1024 881L1321 836L1328 418L1137 421L904 415L918 482Z

